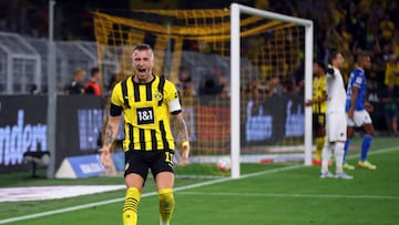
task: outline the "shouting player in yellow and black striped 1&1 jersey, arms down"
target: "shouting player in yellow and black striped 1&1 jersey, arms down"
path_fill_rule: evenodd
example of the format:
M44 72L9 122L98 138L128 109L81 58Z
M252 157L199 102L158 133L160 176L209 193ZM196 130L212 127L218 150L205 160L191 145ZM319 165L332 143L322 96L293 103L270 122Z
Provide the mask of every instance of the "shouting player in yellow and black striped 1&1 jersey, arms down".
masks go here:
M101 162L110 167L110 149L115 140L123 113L125 140L126 198L123 224L137 223L137 207L149 170L155 178L160 197L160 224L167 225L174 209L174 139L170 114L175 132L182 143L182 157L187 162L190 143L187 129L176 88L163 76L153 73L154 51L147 44L133 49L134 74L117 83L111 95L110 117L105 127Z

